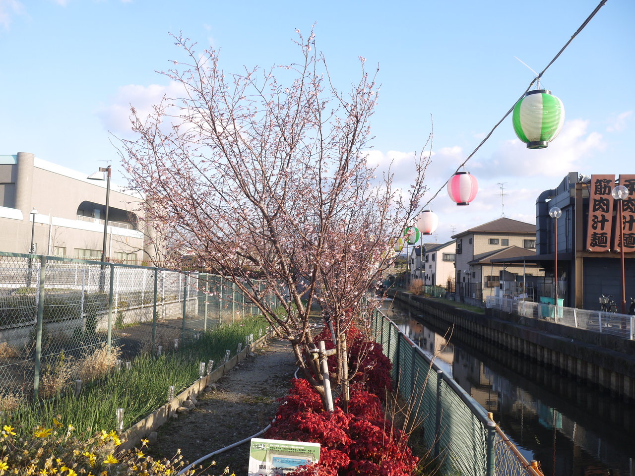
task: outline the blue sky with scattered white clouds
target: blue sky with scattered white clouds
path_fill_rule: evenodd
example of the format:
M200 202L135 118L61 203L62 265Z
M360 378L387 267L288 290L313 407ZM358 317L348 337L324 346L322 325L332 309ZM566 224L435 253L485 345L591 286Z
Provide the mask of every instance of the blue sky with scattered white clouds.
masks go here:
M168 32L199 50L220 48L221 66L269 67L297 59L294 30L315 24L340 88L356 79L358 56L379 66L371 158L408 164L434 121L434 194L599 0L243 1L0 0L0 154L33 152L88 173L118 156L130 104L147 110L170 92L168 60L180 59ZM436 241L502 216L534 222L535 199L570 171L635 173L635 2L608 0L542 87L565 105L563 131L544 150L527 150L508 117L468 162L479 193L458 207L445 190L432 202ZM116 182L123 183L120 171ZM435 237L425 239L434 241Z

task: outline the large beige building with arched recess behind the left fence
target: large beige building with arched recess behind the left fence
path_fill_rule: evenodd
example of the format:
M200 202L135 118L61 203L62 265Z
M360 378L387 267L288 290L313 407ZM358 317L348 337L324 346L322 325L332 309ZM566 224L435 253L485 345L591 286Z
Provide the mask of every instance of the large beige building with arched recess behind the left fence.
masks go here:
M29 253L33 236L36 255L100 260L106 185L28 152L0 155L0 251ZM150 261L138 215L142 197L112 183L109 195L107 258Z

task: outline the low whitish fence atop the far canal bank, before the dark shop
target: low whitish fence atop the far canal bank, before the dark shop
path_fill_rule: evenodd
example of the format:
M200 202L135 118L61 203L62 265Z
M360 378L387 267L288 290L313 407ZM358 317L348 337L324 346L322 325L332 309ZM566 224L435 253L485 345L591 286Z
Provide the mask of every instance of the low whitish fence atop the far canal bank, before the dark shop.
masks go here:
M592 311L507 298L488 296L488 308L511 312L531 319L547 319L563 326L588 329L625 339L633 339L635 316L615 312Z

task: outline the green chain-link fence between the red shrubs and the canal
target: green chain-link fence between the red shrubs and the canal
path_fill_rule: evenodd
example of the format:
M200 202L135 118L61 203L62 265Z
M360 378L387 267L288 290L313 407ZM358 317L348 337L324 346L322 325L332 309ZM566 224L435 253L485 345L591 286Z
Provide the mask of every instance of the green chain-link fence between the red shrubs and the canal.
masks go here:
M459 387L382 312L373 315L375 340L392 362L399 395L408 400L425 446L446 474L542 476L495 425L485 409Z

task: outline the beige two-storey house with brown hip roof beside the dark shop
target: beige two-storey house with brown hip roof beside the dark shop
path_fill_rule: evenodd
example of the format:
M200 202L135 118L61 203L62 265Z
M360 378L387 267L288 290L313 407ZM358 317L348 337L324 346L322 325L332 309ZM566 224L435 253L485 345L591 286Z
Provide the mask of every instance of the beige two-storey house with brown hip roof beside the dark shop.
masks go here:
M536 225L532 223L498 218L452 238L457 241L457 300L482 301L486 296L498 295L503 271L512 276L544 275L534 263L504 262L518 256L535 255Z

